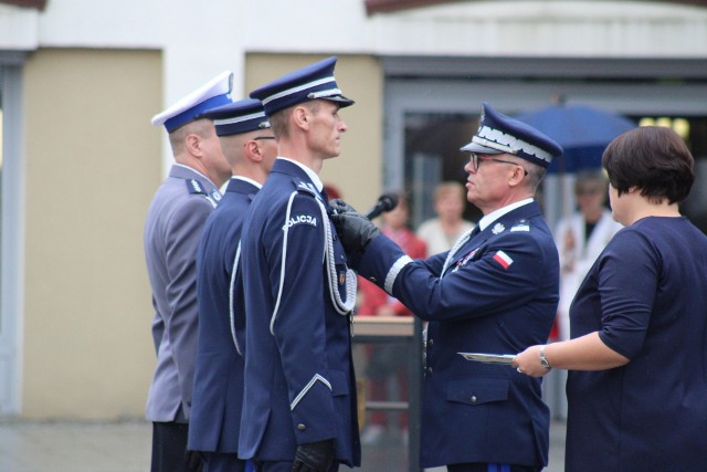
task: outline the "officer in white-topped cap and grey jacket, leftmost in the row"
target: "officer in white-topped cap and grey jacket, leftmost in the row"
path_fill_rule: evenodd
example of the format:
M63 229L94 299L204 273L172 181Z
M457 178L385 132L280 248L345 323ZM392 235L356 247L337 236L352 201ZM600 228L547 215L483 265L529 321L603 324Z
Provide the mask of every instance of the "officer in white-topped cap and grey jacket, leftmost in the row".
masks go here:
M197 358L199 237L231 176L213 123L203 112L231 103L233 74L223 72L152 118L169 134L176 164L157 190L145 223L145 258L152 287L157 367L147 398L152 421L152 472L200 468L187 453Z

